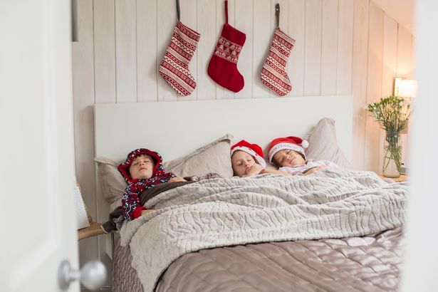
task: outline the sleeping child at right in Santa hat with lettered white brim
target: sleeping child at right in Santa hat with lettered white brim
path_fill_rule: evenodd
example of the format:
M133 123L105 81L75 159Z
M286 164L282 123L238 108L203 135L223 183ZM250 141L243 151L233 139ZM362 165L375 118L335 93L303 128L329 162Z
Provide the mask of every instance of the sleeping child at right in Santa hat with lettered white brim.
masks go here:
M300 137L282 137L271 141L269 144L269 162L273 162L278 170L290 174L308 175L323 167L338 167L328 160L307 160L304 148L308 142Z

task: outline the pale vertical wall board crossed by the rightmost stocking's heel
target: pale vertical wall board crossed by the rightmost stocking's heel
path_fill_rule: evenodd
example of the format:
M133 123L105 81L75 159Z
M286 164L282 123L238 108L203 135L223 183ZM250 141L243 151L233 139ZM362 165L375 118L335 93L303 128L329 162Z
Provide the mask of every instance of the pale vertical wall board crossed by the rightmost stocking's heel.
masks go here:
M269 1L254 1L253 11L253 98L266 98L269 96L267 88L260 80L261 68L268 56L269 46L273 32L271 31L271 19L274 11L271 11Z

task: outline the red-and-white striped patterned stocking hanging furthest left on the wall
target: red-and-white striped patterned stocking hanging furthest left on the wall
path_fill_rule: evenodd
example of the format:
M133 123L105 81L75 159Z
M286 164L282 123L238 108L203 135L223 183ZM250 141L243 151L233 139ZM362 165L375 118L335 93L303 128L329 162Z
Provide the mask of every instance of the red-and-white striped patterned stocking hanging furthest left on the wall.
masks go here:
M179 21L179 2L177 1L178 22L174 28L165 57L160 64L160 75L179 95L190 95L196 88L196 81L189 72L189 63L201 35L184 26Z

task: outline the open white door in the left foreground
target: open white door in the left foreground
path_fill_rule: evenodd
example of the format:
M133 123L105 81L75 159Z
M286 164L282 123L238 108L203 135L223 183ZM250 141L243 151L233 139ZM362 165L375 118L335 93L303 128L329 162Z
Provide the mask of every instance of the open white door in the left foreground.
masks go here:
M70 27L68 0L0 1L0 291L78 269Z

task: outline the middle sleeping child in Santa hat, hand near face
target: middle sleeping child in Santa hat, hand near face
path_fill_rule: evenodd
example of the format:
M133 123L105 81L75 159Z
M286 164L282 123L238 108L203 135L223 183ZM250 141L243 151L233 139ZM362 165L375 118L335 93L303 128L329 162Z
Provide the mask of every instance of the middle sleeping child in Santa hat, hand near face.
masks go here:
M288 172L266 169L261 147L245 140L231 146L231 167L234 175L239 177L254 177L262 173L282 174L286 177L291 175Z

